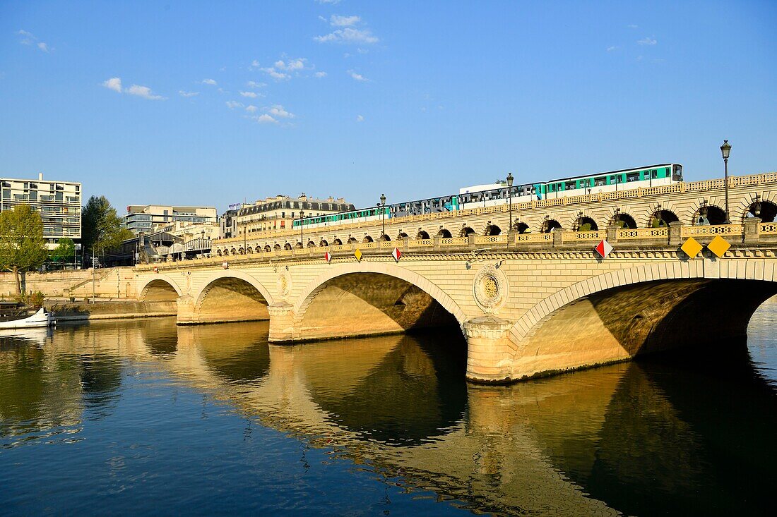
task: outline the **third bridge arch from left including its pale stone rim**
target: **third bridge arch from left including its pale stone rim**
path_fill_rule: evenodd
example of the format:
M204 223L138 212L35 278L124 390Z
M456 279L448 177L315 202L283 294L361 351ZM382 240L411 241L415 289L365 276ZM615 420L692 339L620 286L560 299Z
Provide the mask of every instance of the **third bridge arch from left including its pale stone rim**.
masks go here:
M292 310L310 340L461 327L466 320L458 304L423 276L399 265L371 262L326 269L305 286Z

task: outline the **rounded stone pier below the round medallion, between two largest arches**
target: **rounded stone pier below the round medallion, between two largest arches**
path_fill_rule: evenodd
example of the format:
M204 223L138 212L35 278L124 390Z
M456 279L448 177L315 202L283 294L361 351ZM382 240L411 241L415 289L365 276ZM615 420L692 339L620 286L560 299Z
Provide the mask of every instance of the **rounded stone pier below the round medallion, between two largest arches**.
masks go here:
M510 381L512 353L510 321L484 316L466 321L463 325L467 338L467 380L477 383L504 383Z

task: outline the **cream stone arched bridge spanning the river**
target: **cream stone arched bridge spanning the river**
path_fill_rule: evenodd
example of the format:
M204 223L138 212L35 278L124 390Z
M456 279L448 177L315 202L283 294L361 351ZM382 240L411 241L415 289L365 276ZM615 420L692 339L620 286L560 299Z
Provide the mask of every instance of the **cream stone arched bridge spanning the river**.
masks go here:
M650 199L633 203L692 207L687 196L695 196L707 200L699 206L709 206L709 200L721 199L723 184L706 183L703 198L690 189L642 193ZM460 224L463 217L465 227L481 227L481 234L460 237L438 232L434 238L280 250L267 239L246 238L240 255L138 266L134 291L141 300L176 300L179 324L269 319L275 343L458 325L467 341L467 377L481 382L520 380L681 345L704 344L713 351L745 335L754 310L777 293L777 224L746 217L758 212L755 203L761 213L771 210L775 186L777 175L732 179L732 213L742 216L727 225L693 226L684 219L668 227L624 229L607 220L601 230L494 235L489 227L510 226L497 206L483 209L487 214L430 214L447 217L431 218L435 224ZM603 196L586 196L572 210L625 212L614 208L625 206L625 198ZM521 220L529 219L529 210L517 210ZM488 224L472 223L476 216L490 217ZM379 221L361 227L368 234L376 229L379 235ZM322 228L308 238L325 241L333 231ZM606 259L594 252L602 239L614 248ZM214 243L214 250L233 241ZM399 260L394 248L402 252Z

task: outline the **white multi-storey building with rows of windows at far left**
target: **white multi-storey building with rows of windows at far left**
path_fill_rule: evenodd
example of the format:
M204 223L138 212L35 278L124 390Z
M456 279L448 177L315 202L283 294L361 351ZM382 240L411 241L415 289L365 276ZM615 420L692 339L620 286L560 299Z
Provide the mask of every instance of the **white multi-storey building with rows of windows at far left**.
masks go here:
M81 183L44 180L41 172L38 179L0 178L0 185L0 210L28 204L40 213L48 249L57 248L61 238L81 238Z

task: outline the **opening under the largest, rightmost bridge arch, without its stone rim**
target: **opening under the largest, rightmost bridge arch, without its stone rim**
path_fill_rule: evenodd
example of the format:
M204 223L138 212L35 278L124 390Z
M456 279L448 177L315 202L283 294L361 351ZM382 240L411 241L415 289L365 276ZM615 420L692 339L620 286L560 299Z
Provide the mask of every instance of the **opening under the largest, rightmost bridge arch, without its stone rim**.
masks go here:
M777 294L777 283L753 279L664 279L601 291L596 286L607 281L595 280L584 288L593 293L544 316L539 311L540 321L529 325L520 343L533 352L517 365L517 375L671 349L697 349L708 356L730 352L745 345L752 314ZM551 301L547 305L555 306Z

